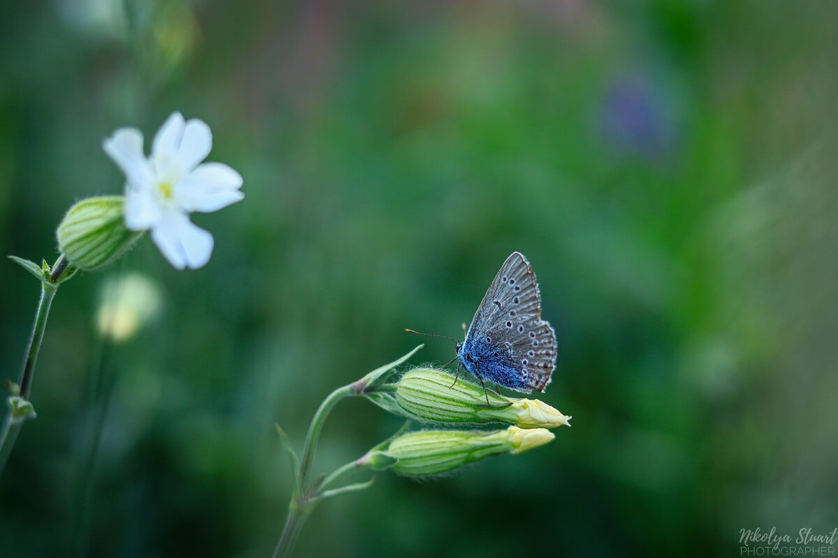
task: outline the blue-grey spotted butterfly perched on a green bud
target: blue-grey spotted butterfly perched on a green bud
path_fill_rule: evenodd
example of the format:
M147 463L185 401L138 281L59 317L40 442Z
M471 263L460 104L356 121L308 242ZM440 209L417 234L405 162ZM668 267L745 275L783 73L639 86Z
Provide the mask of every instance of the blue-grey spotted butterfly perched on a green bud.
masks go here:
M513 252L500 266L465 340L457 341L456 358L454 383L465 368L483 386L487 406L484 380L524 393L544 392L550 384L556 368L556 332L541 320L541 294L524 254Z

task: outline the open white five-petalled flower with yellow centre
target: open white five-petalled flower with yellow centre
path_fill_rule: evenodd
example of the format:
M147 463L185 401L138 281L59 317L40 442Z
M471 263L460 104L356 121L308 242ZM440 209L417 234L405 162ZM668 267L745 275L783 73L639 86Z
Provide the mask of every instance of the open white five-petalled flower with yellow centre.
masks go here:
M151 230L152 240L177 269L209 261L212 235L189 221L189 213L214 212L245 197L241 176L221 163L202 163L212 149L203 121L173 113L154 136L152 154L142 152L142 133L120 128L102 143L125 172L125 225Z

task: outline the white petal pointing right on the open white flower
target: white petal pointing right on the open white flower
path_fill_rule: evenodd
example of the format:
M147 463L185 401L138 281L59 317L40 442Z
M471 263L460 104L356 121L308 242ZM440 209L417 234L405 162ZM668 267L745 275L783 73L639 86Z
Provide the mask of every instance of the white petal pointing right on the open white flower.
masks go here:
M213 212L245 195L239 192L241 175L223 163L204 163L181 179L174 197L187 211Z

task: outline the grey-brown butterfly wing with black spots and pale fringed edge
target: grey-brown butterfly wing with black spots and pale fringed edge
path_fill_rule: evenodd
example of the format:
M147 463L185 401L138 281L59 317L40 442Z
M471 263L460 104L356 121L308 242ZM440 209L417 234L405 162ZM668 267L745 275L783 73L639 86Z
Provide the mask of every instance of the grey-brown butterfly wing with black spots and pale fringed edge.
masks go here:
M530 262L513 252L500 266L474 314L466 340L498 347L504 366L520 371L540 392L556 368L556 333L541 320L541 294Z

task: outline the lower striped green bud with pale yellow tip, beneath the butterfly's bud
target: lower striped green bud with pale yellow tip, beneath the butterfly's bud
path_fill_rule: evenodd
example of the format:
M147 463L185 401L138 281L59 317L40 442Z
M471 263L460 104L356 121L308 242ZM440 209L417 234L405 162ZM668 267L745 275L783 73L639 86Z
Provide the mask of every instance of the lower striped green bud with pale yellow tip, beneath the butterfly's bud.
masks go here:
M401 435L382 453L396 458L391 466L396 473L421 477L447 473L493 455L522 453L553 438L555 435L545 428L509 427L494 432L426 430Z

